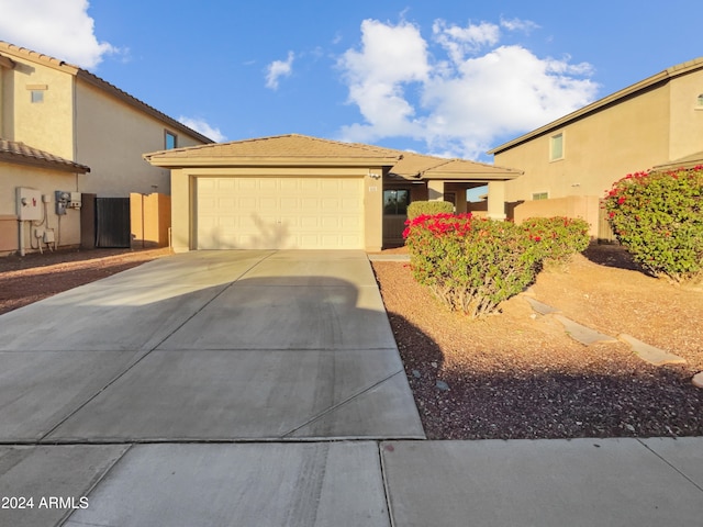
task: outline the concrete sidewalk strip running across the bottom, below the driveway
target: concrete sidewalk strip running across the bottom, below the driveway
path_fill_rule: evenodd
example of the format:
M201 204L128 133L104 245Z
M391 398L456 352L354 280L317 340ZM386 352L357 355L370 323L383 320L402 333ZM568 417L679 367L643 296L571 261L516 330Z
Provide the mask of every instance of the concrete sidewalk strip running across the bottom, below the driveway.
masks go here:
M12 526L690 526L703 439L0 447ZM80 498L86 496L85 502ZM86 508L80 508L83 506Z

